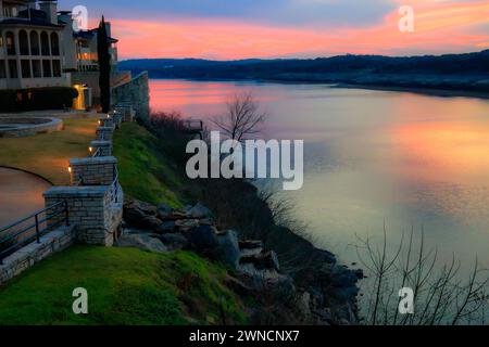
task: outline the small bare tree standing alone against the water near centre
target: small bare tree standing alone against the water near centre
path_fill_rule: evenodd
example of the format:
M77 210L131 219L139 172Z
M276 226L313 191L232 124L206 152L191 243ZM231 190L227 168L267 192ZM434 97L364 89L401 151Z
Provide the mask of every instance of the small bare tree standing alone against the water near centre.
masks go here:
M261 127L266 119L266 114L260 111L258 102L250 92L234 95L226 105L227 113L215 117L212 121L229 139L241 142L262 131Z

